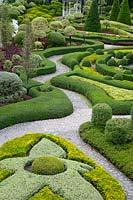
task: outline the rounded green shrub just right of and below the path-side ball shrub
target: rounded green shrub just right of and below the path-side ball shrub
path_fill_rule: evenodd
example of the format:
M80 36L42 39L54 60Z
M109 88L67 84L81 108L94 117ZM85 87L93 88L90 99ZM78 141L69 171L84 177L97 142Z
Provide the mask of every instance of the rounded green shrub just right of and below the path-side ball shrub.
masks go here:
M124 144L128 141L131 130L131 121L125 118L114 118L107 121L105 137L114 144Z

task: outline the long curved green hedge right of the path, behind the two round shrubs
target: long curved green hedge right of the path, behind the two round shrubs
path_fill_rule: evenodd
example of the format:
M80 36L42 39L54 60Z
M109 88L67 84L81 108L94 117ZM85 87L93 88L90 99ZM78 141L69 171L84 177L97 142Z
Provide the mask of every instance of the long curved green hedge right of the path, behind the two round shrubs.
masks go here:
M105 91L90 83L71 78L71 74L66 73L51 79L51 83L55 86L73 90L86 96L95 105L97 103L107 103L111 106L113 114L130 114L133 101L118 101L109 97Z

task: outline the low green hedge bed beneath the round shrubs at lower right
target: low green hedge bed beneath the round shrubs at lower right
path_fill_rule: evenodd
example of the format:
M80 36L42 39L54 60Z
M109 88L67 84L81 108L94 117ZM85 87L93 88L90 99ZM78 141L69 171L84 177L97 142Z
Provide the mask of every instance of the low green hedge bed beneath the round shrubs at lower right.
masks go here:
M82 124L79 128L79 134L83 141L98 149L101 154L133 180L133 141L123 145L107 142L104 130L95 128L91 122Z

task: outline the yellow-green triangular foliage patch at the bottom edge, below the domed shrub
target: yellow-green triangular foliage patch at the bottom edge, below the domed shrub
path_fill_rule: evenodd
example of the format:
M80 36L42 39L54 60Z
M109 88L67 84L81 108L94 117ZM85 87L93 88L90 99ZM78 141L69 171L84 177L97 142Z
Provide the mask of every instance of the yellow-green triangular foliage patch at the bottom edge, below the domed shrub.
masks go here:
M64 200L63 197L53 193L48 186L41 189L38 193L36 193L33 197L28 200Z

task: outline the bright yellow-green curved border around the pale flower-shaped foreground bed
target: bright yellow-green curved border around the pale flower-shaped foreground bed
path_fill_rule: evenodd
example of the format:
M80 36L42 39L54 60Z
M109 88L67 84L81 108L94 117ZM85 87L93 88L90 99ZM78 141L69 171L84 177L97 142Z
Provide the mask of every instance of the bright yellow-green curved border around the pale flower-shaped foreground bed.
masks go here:
M91 171L84 174L84 178L100 191L105 200L125 200L120 184L112 176L70 142L51 134L28 134L8 141L0 147L0 160L7 157L26 156L28 151L43 137L61 146L67 152L67 159L79 161L93 167Z

